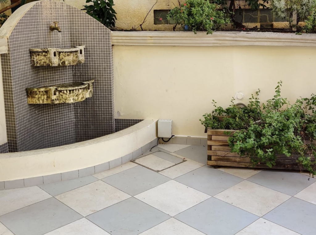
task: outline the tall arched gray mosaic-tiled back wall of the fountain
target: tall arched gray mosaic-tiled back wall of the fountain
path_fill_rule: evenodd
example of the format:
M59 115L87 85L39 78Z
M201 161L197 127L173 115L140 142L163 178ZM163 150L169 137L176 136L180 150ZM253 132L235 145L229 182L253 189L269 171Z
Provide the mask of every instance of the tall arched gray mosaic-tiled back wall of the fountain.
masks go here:
M62 32L51 32L58 21ZM49 148L115 131L110 30L62 1L36 3L21 18L1 55L9 152ZM32 67L29 48L85 45L85 63ZM94 79L94 95L80 103L27 104L26 87Z

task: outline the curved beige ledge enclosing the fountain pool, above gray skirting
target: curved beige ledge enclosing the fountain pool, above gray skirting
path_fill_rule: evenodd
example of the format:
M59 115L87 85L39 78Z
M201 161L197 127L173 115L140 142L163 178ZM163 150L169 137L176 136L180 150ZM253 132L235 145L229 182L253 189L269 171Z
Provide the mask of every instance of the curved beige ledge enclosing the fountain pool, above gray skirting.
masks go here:
M75 144L0 154L0 182L71 172L121 158L157 138L157 121L146 119L125 130Z

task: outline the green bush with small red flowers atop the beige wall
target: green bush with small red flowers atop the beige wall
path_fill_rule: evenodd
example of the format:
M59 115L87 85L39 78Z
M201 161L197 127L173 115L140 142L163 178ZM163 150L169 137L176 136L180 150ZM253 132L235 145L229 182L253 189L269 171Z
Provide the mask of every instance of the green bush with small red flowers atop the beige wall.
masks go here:
M213 33L224 23L228 23L227 14L218 10L219 6L205 0L186 0L179 7L173 8L167 15L167 19L173 18L181 26L188 25L194 33L207 31Z

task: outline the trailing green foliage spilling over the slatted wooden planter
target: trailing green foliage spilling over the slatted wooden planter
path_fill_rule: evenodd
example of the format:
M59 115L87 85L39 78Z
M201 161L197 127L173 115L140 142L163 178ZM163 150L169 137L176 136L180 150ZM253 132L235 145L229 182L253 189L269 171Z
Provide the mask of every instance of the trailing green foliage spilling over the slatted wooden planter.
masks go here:
M237 130L228 139L229 147L240 156L247 156L252 163L276 165L278 154L298 155L301 169L316 174L316 95L297 99L294 104L281 97L282 81L275 88L275 95L260 104L258 95L252 95L246 107L231 105L217 107L203 115L201 123L206 128ZM219 121L218 116L227 116ZM229 134L229 132L227 133Z

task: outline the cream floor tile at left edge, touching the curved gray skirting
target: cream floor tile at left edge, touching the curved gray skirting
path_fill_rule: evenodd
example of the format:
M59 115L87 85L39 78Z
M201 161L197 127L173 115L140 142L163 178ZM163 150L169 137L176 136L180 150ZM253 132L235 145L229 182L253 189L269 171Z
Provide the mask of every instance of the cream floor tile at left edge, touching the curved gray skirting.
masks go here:
M0 215L52 197L37 186L0 191ZM3 206L5 205L5 206Z

